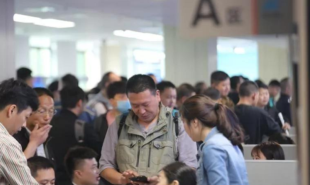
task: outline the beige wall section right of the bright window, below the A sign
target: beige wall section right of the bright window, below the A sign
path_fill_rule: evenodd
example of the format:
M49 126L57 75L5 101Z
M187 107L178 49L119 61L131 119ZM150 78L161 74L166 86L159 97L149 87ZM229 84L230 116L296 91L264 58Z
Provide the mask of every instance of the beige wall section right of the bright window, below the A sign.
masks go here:
M265 83L271 79L289 76L289 54L286 48L258 43L259 78Z

